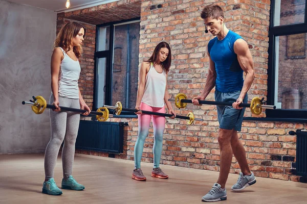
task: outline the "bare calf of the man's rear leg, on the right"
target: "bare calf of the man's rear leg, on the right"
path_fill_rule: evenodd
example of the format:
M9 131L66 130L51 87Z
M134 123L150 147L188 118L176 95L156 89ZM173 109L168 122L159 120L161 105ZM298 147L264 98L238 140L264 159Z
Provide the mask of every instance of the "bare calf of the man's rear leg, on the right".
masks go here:
M235 130L232 130L231 148L233 155L240 166L241 172L244 175L250 175L251 171L247 163L246 151L237 136L237 131Z

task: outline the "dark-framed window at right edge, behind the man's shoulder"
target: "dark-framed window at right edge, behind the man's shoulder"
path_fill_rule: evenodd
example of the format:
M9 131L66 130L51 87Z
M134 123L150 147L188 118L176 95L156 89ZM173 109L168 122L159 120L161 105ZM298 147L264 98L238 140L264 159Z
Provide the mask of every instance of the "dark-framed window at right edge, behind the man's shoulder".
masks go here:
M306 119L306 0L271 1L267 117Z

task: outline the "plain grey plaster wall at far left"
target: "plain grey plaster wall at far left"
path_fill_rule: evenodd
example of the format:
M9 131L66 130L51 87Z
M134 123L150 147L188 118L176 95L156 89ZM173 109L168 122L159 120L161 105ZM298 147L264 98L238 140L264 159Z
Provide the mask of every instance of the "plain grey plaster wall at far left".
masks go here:
M49 111L36 115L21 101L49 101L56 13L0 0L0 154L45 151Z

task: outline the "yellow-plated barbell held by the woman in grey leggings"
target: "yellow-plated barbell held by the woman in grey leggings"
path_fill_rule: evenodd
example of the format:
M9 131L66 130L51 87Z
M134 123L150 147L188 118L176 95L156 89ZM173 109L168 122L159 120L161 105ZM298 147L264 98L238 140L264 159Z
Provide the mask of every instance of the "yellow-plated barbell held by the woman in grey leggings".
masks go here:
M32 108L32 111L36 114L41 114L45 111L46 108L48 109L56 109L54 105L47 104L45 98L42 96L32 96L33 100L30 100L30 102L23 101L23 105L29 105ZM69 107L62 107L59 106L59 108L63 111L72 111L72 112L77 112L77 113L85 113L86 110L82 109L75 109L75 108L69 108ZM104 122L106 121L109 116L112 117L112 114L109 114L109 111L107 108L100 107L97 109L97 111L91 111L90 114L96 115L96 119L99 122Z

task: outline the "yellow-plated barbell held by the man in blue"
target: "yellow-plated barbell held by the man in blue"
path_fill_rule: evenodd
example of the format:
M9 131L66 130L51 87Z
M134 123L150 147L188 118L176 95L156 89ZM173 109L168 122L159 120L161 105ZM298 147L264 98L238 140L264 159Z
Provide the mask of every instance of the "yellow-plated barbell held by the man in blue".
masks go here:
M177 108L185 108L188 104L192 104L191 99L187 99L184 93L179 93L176 95L175 99L168 99L169 101L175 101ZM251 109L251 112L255 115L260 115L262 108L266 109L276 109L276 106L263 105L266 101L264 98L254 97L250 104L240 104L239 107L247 107ZM210 101L210 100L199 100L199 104L207 105L217 105L217 106L232 106L231 102L220 102L220 101Z

